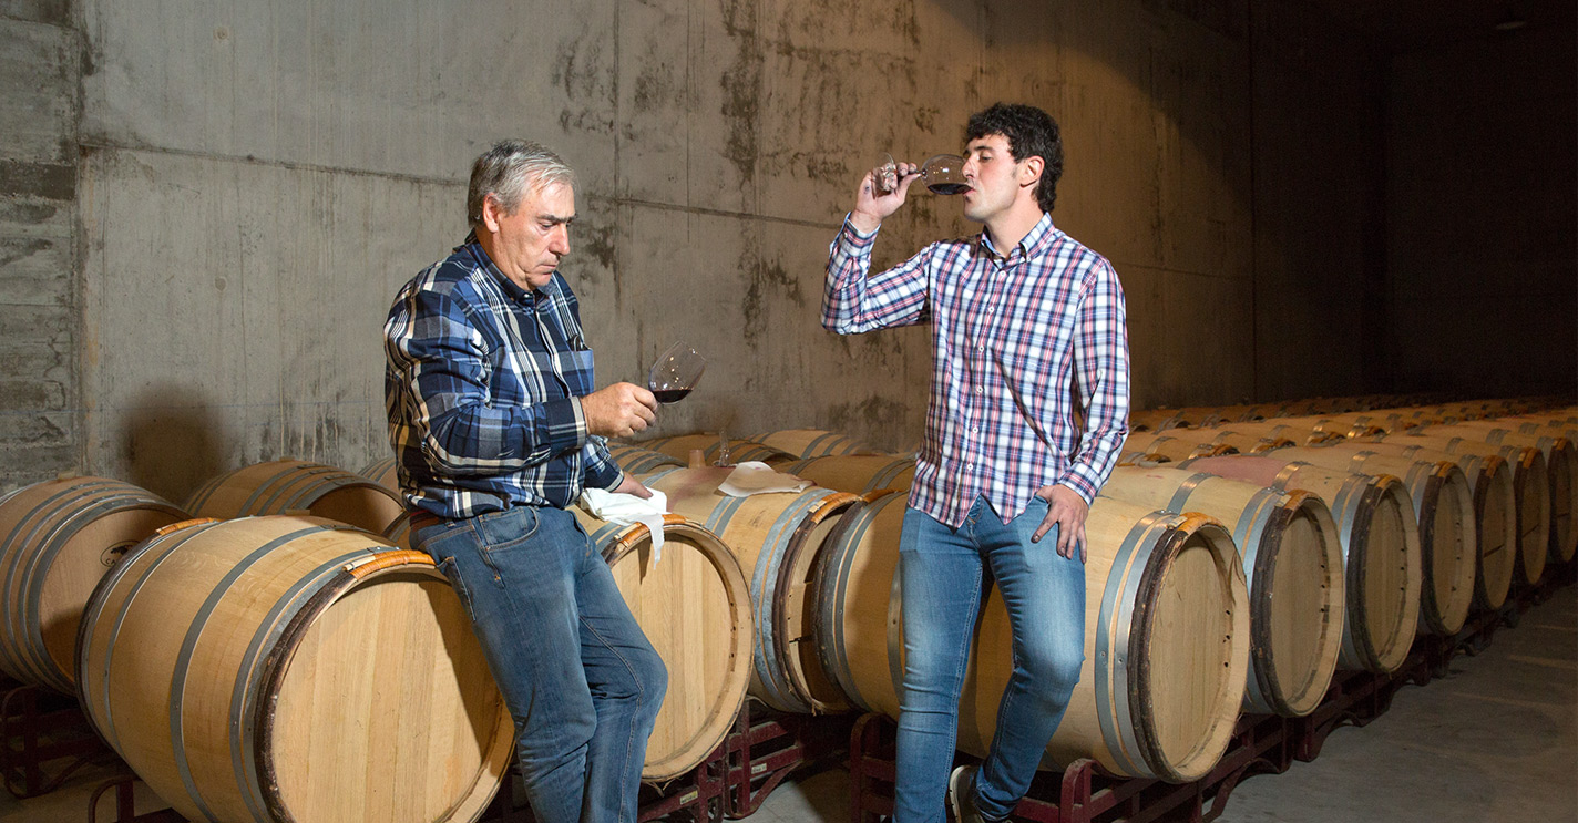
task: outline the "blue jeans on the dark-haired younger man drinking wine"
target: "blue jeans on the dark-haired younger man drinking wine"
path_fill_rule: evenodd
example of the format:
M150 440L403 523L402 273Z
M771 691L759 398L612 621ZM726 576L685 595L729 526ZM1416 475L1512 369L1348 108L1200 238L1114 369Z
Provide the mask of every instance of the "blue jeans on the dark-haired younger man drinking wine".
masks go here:
M975 777L982 817L1018 806L1068 708L1084 661L1084 563L1057 553L1057 528L1030 534L1046 501L1004 523L977 498L958 530L909 509L899 538L904 689L899 695L895 823L940 823L958 738L959 691L993 579L1013 632L1013 675ZM988 577L989 574L989 577Z

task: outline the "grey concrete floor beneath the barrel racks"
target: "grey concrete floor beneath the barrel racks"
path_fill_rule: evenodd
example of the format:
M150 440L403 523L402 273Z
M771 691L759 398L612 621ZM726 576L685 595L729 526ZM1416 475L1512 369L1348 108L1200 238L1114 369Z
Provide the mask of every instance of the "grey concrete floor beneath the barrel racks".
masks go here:
M46 796L0 793L0 823L79 823L114 774L95 766ZM163 807L147 790L139 814ZM104 799L99 820L115 809ZM753 823L849 821L849 774L786 782ZM1240 784L1221 823L1578 821L1578 587L1496 632L1450 673L1404 687L1365 728L1340 728L1311 763Z

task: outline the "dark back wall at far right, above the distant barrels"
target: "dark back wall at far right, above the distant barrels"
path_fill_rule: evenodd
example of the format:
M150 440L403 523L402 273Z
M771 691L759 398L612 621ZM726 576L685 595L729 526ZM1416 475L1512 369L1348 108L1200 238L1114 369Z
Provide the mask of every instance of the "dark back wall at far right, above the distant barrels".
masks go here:
M1578 9L1557 14L1393 60L1387 270L1406 391L1578 396Z

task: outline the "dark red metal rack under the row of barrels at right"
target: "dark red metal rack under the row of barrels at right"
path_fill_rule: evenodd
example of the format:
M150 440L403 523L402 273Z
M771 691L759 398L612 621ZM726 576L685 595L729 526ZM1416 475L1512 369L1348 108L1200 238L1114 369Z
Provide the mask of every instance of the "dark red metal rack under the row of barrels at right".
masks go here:
M1344 725L1363 727L1392 706L1404 686L1425 686L1447 673L1458 654L1477 654L1498 627L1516 626L1523 612L1578 579L1578 564L1553 568L1539 585L1526 585L1496 610L1469 616L1452 637L1419 637L1403 667L1390 675L1338 673L1326 698L1305 717L1243 716L1221 762L1191 784L1116 777L1094 760L1076 760L1062 773L1043 771L1030 784L1015 818L1034 823L1150 823L1217 820L1228 796L1255 774L1280 774L1314 760L1326 738ZM893 814L893 738L896 727L865 714L849 735L851 823L877 823Z

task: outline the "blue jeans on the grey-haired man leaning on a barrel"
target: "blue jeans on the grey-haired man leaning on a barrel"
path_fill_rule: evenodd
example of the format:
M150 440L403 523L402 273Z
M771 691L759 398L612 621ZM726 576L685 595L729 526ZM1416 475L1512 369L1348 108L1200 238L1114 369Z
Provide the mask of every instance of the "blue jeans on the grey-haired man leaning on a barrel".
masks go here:
M429 525L412 546L466 602L537 820L633 823L667 670L581 523L518 506Z

